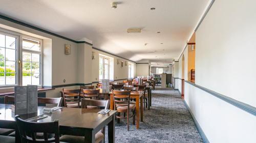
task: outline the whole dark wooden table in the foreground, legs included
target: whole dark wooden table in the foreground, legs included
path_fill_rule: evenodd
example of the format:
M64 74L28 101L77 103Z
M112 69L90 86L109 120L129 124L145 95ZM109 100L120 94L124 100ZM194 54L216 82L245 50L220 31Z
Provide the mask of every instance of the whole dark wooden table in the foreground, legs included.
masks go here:
M0 104L0 128L16 129L15 116L10 107L9 104ZM38 106L37 113L20 115L20 117L28 119L41 115L43 108ZM109 142L115 142L116 111L112 110L106 115L99 115L98 111L97 109L62 108L47 114L48 118L37 122L58 120L60 134L86 136L86 142L95 142L95 134L108 125Z

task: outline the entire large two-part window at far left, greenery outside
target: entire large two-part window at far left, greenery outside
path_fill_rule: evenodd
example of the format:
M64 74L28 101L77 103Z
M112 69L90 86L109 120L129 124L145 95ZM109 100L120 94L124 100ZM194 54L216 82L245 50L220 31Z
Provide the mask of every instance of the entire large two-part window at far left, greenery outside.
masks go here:
M42 85L42 40L3 31L0 31L0 87Z

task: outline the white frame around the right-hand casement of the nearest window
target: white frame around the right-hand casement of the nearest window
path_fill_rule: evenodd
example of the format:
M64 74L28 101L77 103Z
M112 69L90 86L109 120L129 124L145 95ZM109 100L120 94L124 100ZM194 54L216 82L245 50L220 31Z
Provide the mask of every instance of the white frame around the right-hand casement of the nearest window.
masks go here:
M21 38L20 38L20 40L23 42L23 38L27 38L27 39L31 39L31 40L36 40L36 41L39 41L40 42L40 49L41 49L41 51L35 51L35 50L29 50L29 49L23 49L23 45L21 46L21 48L20 48L20 61L22 61L22 66L21 66L21 68L20 68L20 72L21 73L23 73L22 72L22 70L23 70L23 52L28 52L28 53L35 53L35 54L40 54L40 64L39 64L39 72L40 72L40 79L39 79L39 85L37 85L38 86L38 88L42 88L42 50L43 50L43 46L42 46L42 39L39 39L39 38L35 38L35 37L31 37L31 36L28 36L28 35L22 35L21 36ZM21 76L20 76L20 85L22 85L23 84L23 74L21 74Z

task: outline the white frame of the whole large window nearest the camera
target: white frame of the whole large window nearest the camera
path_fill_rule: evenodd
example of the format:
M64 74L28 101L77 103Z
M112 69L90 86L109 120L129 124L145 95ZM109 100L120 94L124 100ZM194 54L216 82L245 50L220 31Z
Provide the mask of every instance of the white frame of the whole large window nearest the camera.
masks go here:
M20 34L17 32L13 32L10 30L6 30L5 28L1 28L0 27L0 34L3 35L7 35L7 36L11 36L11 37L15 37L16 38L16 75L15 75L15 84L10 84L10 85L0 85L0 89L5 89L5 88L13 88L15 85L22 85L22 76L23 76L23 72L22 72L22 53L23 51L27 51L27 52L31 52L31 53L38 53L37 51L34 50L29 50L29 49L23 49L22 47L22 42L23 42L23 38L28 38L28 39L32 39L32 40L37 40L40 41L40 83L38 85L38 88L42 88L42 84L43 84L43 50L44 50L44 46L42 45L43 41L42 39L36 38L36 37L32 37L32 36L28 36L28 35L24 35L24 34Z

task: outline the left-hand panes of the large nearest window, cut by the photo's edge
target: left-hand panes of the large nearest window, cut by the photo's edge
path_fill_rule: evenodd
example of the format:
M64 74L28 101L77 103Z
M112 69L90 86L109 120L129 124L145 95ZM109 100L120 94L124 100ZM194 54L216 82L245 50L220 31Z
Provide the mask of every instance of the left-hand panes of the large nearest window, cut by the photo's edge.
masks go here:
M15 85L17 80L18 36L0 32L0 85Z

